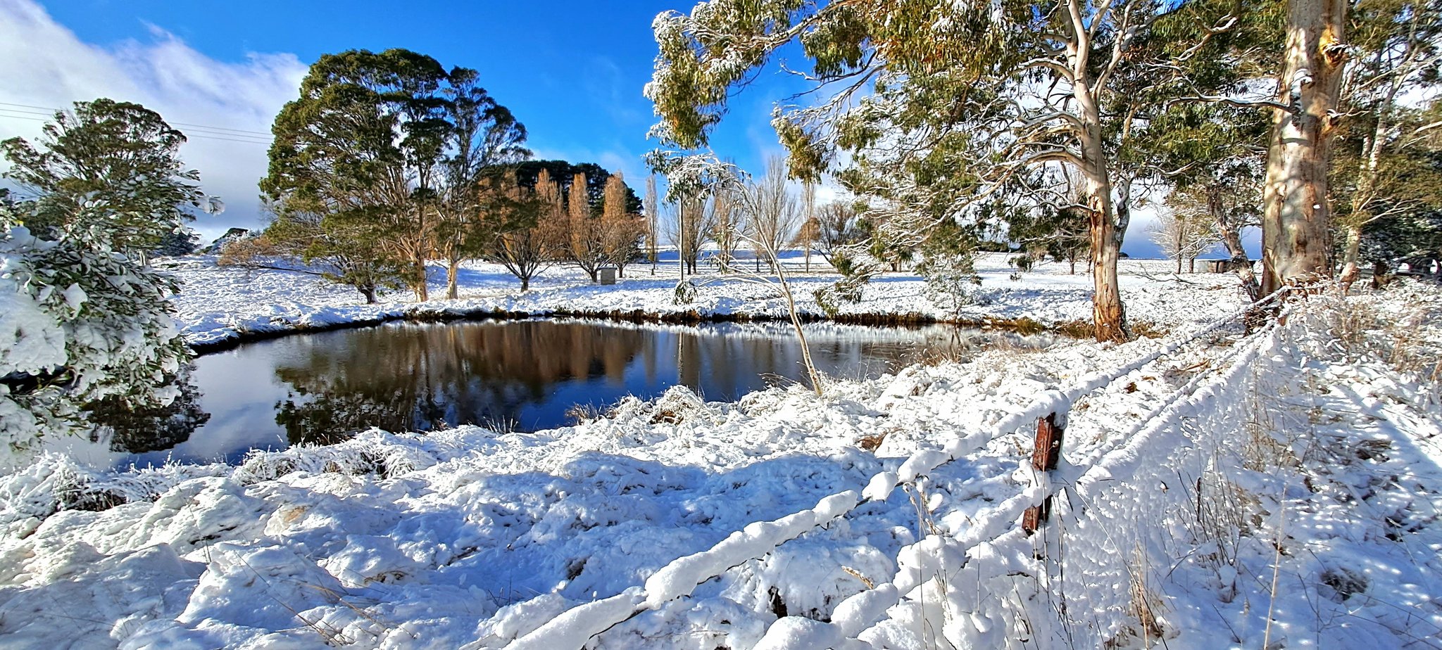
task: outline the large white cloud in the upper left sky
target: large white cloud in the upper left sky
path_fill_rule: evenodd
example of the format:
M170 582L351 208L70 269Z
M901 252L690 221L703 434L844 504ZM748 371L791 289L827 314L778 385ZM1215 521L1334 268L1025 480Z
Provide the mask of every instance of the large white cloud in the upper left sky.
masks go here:
M190 135L182 148L186 164L200 170L205 190L226 203L225 213L193 223L205 239L231 226L260 223L257 180L265 174L267 147L254 140L268 135L236 134L231 140L248 141L226 141L219 133L177 123L270 133L304 74L306 65L291 53L249 53L242 62L222 62L154 26L143 42L85 43L36 3L0 0L0 102L68 108L75 101L108 97L160 112ZM0 105L0 137L40 133L40 121L14 117L20 112L10 108L16 107Z

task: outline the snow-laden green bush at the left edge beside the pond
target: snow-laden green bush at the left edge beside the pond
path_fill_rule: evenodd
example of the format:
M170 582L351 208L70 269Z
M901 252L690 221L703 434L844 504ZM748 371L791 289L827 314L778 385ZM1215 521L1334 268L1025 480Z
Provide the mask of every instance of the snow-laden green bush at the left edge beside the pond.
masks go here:
M0 213L0 442L22 451L84 431L101 399L174 399L169 379L189 356L166 300L174 281L110 249L104 232L50 241L17 223Z

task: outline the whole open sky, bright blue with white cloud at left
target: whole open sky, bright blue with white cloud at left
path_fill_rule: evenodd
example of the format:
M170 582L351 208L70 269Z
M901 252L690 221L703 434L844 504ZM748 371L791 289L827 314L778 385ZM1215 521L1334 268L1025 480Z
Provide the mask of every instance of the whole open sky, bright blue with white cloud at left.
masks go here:
M642 97L656 45L652 19L691 1L173 1L0 0L0 138L32 137L42 118L23 107L111 97L146 104L186 128L186 161L228 209L195 226L212 238L261 223L255 180L280 105L317 56L407 48L480 72L525 123L538 157L619 169L637 193L655 115ZM797 68L800 65L797 63ZM737 95L712 148L750 170L779 153L774 101L800 86L771 65ZM20 105L20 107L17 107ZM43 112L43 111L39 111ZM245 141L234 141L234 140ZM1133 228L1126 249L1151 257Z

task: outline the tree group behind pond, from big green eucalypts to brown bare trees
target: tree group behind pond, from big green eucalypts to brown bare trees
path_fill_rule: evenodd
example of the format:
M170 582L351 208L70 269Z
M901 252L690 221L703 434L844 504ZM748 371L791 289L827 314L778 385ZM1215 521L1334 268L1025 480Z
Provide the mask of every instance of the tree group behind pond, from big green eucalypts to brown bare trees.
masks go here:
M548 264L594 280L640 251L640 200L620 176L528 160L525 127L469 68L404 49L324 55L273 133L261 190L274 222L224 262L296 258L373 303L398 287L428 300L433 259L456 298L467 259L528 288Z

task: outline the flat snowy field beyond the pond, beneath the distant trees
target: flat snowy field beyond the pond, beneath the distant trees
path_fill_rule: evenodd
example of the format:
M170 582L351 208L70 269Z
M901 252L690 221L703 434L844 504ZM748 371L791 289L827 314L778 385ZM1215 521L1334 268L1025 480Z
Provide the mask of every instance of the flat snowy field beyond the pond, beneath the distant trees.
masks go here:
M803 259L795 252L786 264L796 272L793 291L799 308L822 316L812 293L835 282L838 275L819 271L825 268L820 257L812 258L810 274L803 271ZM747 262L741 267L751 268ZM213 258L180 258L162 268L170 270L183 282L176 297L182 331L192 344L202 346L254 333L495 311L786 316L784 303L773 287L738 275L718 275L707 265L701 267L701 275L695 275L701 284L695 301L678 306L673 303L675 261L658 267L655 275L650 265L627 267L627 277L613 287L594 285L574 268L552 267L534 280L526 293L521 293L519 282L502 267L473 262L461 270L459 300L414 303L411 293L392 291L372 306L349 287L301 272L216 267ZM1015 270L1007 265L1007 255L983 255L978 271L982 284L969 288L970 304L960 310L953 310L945 300L940 304L933 300L926 282L916 274L897 272L872 280L862 288L862 300L842 304L841 311L966 321L1031 319L1043 324L1092 319L1092 277L1086 274L1084 264L1074 275L1067 272L1064 264L1043 264L1021 274L1019 280L1011 280ZM1242 304L1233 275L1175 275L1168 261L1123 261L1120 285L1132 319L1161 327L1206 321ZM444 270L433 265L431 295L444 295Z

